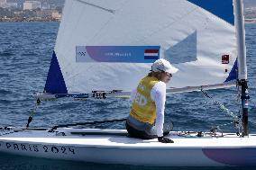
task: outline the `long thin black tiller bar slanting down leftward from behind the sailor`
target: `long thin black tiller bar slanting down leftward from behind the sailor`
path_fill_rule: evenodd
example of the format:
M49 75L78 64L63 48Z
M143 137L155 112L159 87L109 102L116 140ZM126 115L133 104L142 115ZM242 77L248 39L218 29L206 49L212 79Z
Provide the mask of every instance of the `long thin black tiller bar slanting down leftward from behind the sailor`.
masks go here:
M94 124L102 124L102 123L107 123L107 122L118 122L118 121L126 121L127 118L123 118L120 120L105 120L105 121L88 121L88 122L78 122L78 123L70 123L70 124L61 124L54 126L51 128L50 131L56 130L57 128L64 128L64 127L70 127L70 126L79 126L79 125L94 125Z

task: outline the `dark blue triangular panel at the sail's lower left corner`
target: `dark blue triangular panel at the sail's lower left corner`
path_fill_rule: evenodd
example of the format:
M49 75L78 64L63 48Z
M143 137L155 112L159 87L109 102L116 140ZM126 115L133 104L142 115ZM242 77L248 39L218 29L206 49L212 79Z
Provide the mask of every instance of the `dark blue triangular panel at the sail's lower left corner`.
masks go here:
M53 51L50 61L50 68L44 87L44 92L50 94L68 94L68 90L62 76L55 51Z

